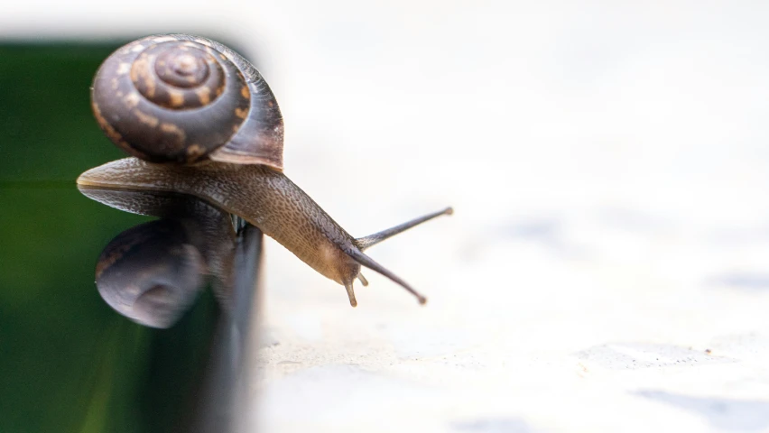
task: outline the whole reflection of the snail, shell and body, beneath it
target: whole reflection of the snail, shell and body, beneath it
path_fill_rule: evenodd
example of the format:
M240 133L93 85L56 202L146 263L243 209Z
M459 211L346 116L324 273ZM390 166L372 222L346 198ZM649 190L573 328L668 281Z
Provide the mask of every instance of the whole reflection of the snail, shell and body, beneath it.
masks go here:
M208 277L231 308L236 234L229 214L181 194L81 188L88 198L128 212L162 217L117 235L99 256L101 297L127 318L171 327Z

